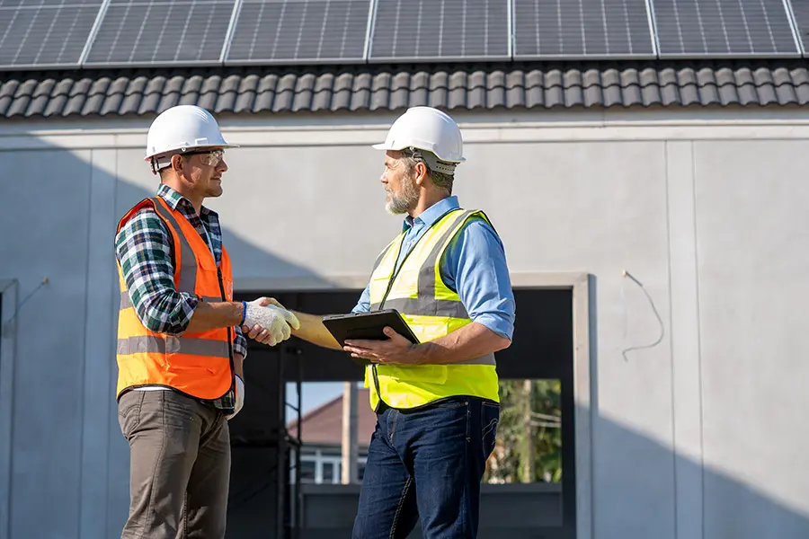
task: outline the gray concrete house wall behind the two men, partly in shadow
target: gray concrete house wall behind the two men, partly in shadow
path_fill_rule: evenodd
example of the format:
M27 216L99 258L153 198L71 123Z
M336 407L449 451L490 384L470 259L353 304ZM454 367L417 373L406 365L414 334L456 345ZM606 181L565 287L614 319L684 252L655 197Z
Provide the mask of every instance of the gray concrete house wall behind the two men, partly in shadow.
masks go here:
M368 147L390 119L222 119L244 145L210 204L236 287L363 282L400 226ZM580 537L809 535L809 114L458 119L457 194L492 218L515 286L538 271L592 276ZM3 311L16 345L0 349L0 373L13 374L0 380L12 388L0 399L0 537L110 537L125 517L111 246L118 217L156 188L146 125L0 124L0 283L18 279L16 318Z

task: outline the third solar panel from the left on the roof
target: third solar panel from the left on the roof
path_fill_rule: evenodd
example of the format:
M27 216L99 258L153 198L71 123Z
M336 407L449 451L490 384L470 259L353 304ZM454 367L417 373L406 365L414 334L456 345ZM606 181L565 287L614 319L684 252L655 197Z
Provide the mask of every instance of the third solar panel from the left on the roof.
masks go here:
M242 4L226 62L356 62L365 57L369 0Z

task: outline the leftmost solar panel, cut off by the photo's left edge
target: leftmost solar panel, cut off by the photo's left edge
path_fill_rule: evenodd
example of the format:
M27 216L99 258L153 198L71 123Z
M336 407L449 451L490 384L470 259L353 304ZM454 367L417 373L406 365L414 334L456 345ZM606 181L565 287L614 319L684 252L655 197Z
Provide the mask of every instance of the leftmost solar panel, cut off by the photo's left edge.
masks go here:
M77 66L101 0L2 0L0 67Z

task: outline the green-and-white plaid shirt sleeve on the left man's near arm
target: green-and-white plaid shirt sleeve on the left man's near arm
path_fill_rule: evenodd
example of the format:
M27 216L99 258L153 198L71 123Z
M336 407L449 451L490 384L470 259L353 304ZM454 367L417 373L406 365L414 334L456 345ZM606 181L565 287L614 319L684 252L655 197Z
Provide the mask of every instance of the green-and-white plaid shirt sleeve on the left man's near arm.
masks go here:
M174 287L171 239L152 208L143 208L115 236L115 251L138 320L156 333L180 335L198 299Z

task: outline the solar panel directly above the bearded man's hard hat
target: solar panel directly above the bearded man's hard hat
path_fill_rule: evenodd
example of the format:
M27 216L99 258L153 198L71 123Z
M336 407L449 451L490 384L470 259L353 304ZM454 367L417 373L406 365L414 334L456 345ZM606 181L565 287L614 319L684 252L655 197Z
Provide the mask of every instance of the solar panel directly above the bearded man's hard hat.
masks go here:
M509 0L378 0L370 60L509 59Z

